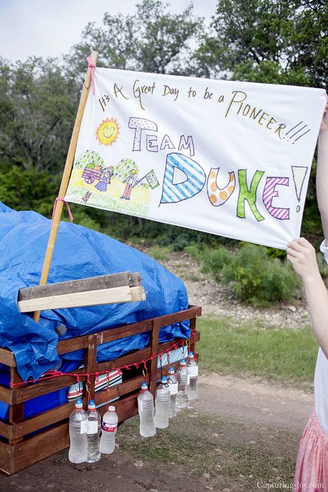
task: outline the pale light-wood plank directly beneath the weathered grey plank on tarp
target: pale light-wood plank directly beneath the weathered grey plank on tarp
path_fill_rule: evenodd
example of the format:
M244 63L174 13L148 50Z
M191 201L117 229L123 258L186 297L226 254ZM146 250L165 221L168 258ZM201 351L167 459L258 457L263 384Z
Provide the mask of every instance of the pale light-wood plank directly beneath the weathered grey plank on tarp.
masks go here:
M114 287L100 291L84 291L48 298L29 299L17 302L21 313L44 311L46 309L65 309L69 307L95 306L98 304L116 304L116 302L136 302L145 300L143 287Z

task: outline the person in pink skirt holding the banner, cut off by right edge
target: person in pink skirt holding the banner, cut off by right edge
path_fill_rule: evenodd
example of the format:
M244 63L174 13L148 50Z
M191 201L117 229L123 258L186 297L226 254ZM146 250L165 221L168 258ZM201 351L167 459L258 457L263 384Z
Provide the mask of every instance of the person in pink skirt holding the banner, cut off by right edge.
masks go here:
M328 263L328 102L319 134L317 197L325 233L320 250ZM293 239L287 258L303 282L313 333L319 344L315 406L300 441L293 490L308 490L311 484L318 484L318 490L328 491L328 293L319 272L316 250L307 239Z

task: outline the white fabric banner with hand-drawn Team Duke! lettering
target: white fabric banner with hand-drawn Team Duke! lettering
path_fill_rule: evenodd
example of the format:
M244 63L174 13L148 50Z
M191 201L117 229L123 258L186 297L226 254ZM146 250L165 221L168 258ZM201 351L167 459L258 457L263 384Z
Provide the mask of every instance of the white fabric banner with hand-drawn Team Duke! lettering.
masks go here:
M95 69L66 200L286 249L325 91Z

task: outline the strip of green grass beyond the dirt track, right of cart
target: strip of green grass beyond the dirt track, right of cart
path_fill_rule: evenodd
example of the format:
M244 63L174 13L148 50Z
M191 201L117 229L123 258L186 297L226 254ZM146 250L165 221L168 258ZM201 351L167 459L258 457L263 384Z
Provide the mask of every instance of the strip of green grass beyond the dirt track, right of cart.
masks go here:
M203 317L197 327L201 370L311 388L318 344L309 325L277 328L257 320L237 326L233 318Z

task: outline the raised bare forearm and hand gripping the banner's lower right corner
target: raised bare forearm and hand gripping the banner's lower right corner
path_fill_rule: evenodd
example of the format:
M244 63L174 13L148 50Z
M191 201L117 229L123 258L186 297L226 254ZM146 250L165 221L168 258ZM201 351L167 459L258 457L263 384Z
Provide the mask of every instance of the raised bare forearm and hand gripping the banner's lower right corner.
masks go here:
M307 239L300 237L289 243L287 258L303 282L313 332L328 358L328 293L319 272L316 251Z

